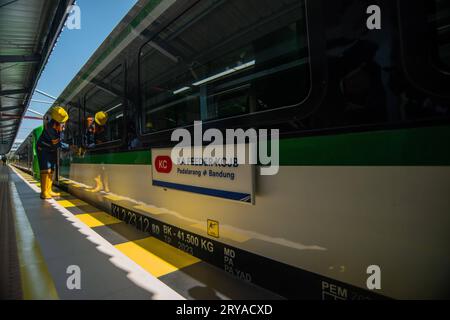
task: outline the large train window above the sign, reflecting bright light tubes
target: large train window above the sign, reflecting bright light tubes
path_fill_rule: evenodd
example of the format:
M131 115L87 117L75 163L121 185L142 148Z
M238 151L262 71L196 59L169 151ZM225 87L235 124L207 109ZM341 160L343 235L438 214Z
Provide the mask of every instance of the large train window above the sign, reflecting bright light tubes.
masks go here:
M140 66L144 133L299 105L304 1L201 1L143 46Z

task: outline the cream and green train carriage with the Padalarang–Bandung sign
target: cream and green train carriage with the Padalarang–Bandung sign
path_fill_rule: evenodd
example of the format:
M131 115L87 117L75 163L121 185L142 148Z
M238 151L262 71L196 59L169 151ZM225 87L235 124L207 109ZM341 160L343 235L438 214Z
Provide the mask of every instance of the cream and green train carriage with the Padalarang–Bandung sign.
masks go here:
M449 89L448 0L139 0L55 101L56 179L288 299L449 298ZM279 130L278 173L157 162L195 121Z

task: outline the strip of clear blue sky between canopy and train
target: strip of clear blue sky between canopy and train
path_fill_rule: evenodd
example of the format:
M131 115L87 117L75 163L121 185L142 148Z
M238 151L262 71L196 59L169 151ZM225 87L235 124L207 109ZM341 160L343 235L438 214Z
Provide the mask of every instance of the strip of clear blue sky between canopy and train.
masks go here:
M63 29L36 88L58 97L136 2L137 0L76 1L80 7L81 28ZM32 100L52 101L37 92ZM31 102L29 109L45 113L49 107L49 104ZM26 115L36 116L31 112ZM41 124L41 120L24 119L16 141L25 139Z

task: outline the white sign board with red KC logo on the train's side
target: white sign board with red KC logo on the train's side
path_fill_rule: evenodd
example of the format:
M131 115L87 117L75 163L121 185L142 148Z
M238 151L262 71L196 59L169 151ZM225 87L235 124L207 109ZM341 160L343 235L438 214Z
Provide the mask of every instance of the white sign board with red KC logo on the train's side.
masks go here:
M177 164L171 159L171 151L152 149L154 186L254 204L254 165L237 164L237 161L233 164L207 164L207 161Z

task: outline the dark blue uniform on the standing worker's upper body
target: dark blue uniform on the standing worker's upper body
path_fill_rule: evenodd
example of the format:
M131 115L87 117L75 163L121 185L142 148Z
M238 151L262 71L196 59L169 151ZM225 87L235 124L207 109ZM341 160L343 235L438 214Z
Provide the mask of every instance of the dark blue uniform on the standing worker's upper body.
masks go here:
M62 132L59 124L50 120L37 142L37 153L40 170L54 171L56 167L56 156L58 149L68 150L69 145L62 142Z

